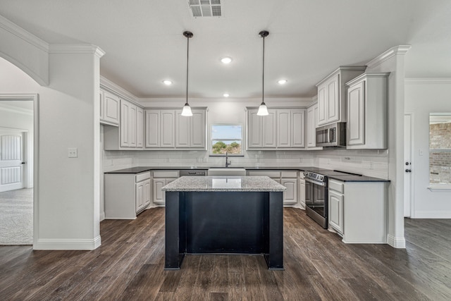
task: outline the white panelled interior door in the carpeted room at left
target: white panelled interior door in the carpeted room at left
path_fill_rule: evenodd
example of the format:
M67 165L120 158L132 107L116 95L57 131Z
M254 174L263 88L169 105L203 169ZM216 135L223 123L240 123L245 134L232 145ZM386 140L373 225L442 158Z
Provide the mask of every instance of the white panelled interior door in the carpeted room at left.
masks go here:
M0 132L0 192L23 185L23 133Z

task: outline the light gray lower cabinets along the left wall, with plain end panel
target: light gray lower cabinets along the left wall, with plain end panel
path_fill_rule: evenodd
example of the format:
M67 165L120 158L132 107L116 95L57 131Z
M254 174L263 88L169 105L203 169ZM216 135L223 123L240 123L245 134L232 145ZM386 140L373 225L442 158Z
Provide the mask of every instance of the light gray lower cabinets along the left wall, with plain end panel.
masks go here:
M105 219L136 219L150 204L150 171L105 173Z

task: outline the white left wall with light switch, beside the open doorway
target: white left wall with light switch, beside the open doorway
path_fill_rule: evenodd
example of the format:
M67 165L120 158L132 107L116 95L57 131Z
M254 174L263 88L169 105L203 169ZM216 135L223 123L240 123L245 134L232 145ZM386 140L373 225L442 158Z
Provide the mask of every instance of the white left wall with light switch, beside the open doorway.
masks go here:
M20 44L22 37L6 31L0 27L0 56L16 57L19 66L31 59L35 65L29 66L35 70L39 64L49 68L49 85L42 87L16 66L0 61L1 94L39 94L33 247L92 250L100 245L97 104L103 52L92 45L50 45L47 63L41 58L42 47L27 38L16 56L17 49L10 46ZM78 158L68 158L68 147L78 148Z

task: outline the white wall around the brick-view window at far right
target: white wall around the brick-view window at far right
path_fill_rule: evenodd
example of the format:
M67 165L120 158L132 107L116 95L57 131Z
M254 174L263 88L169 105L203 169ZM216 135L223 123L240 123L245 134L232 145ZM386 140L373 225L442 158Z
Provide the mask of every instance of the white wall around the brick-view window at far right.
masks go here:
M451 218L451 189L440 192L429 186L429 113L451 113L451 80L409 79L405 85L406 113L413 113L412 217ZM419 150L423 155L419 155Z

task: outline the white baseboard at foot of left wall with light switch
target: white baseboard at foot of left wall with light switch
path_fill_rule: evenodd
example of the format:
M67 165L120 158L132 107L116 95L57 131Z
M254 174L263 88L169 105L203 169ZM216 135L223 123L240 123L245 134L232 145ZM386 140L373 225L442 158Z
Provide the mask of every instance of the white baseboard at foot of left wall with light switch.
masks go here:
M94 239L38 239L33 250L94 250L100 245L100 235Z

